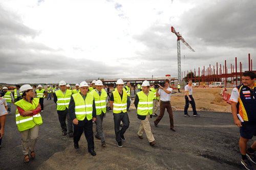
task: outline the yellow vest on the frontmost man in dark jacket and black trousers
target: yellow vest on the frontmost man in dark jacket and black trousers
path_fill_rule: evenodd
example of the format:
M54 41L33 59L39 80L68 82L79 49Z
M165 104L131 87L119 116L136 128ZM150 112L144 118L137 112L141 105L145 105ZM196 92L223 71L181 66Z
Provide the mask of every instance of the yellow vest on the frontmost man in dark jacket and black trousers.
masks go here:
M86 100L80 93L72 94L75 102L75 114L78 120L84 120L87 118L91 120L93 118L93 94L87 93Z

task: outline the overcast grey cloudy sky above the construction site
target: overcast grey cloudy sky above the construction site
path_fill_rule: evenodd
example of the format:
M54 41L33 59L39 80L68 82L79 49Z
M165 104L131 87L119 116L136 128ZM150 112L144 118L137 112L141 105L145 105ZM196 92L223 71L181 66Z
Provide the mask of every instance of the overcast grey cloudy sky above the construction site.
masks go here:
M177 77L181 69L256 69L256 1L0 0L0 82ZM254 12L253 12L254 11ZM185 55L185 59L184 59Z

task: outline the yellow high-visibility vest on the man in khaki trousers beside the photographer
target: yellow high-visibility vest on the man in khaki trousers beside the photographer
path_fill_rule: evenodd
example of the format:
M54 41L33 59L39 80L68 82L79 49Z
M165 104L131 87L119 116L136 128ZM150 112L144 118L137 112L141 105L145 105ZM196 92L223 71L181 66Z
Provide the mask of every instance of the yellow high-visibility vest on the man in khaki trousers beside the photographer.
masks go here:
M140 91L137 95L139 97L137 113L139 115L147 115L148 113L152 114L154 93L149 91L148 95L146 95L143 91Z

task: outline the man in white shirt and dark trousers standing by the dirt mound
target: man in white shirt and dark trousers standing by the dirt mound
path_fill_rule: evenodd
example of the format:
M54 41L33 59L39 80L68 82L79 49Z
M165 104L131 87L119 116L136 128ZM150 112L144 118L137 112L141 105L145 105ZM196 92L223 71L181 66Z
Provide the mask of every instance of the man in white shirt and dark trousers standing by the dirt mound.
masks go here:
M197 109L196 109L196 103L195 100L192 96L193 89L192 89L192 80L188 80L188 84L185 86L185 107L184 107L184 116L189 117L187 113L187 109L189 106L189 103L193 109L193 116L199 117L200 114L197 114Z

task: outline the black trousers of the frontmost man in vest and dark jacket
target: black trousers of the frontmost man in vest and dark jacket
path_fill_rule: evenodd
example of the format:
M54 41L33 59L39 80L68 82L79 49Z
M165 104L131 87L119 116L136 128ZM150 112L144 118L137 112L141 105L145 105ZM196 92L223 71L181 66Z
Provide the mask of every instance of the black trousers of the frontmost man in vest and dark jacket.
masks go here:
M73 140L74 143L78 143L82 133L84 132L84 136L86 136L88 151L94 150L94 139L93 139L93 120L87 120L85 118L83 126L74 125L74 134Z

